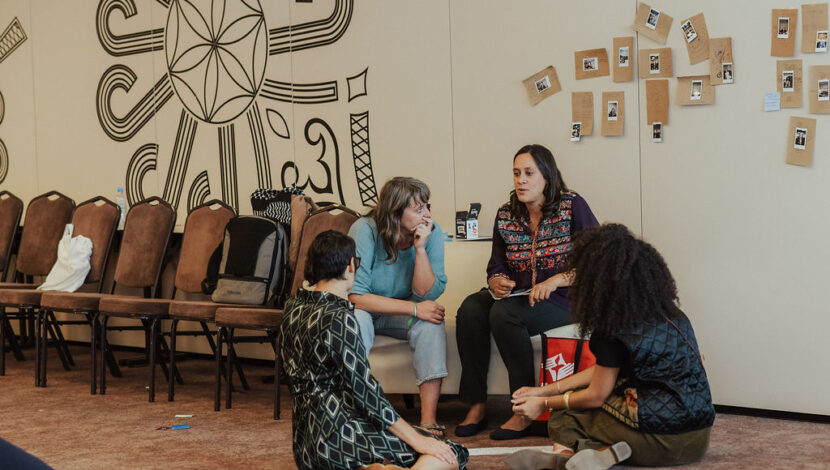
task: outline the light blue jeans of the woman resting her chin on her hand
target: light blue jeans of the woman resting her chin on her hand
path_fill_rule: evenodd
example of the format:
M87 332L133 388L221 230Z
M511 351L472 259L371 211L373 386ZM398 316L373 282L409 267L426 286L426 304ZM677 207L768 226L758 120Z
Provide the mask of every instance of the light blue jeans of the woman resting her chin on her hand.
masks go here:
M415 366L416 385L447 376L447 331L440 325L407 315L374 315L354 309L360 325L360 337L366 354L375 343L375 335L409 341Z

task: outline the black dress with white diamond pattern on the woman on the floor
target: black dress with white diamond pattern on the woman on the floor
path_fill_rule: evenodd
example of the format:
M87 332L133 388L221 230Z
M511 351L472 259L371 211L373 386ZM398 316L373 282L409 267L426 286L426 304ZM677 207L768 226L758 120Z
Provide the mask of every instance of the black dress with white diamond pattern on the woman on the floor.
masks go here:
M300 469L353 469L384 458L409 467L418 460L412 447L387 430L399 416L369 370L352 303L300 289L285 304L280 341ZM446 442L464 469L467 449Z

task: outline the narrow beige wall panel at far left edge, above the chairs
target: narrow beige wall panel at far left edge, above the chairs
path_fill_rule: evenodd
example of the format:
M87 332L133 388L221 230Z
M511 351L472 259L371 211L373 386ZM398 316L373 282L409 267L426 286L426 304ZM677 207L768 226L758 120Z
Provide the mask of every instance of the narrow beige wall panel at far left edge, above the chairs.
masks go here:
M17 18L26 36L0 63L0 190L11 191L28 203L39 194L35 146L34 84L32 80L32 21L29 2L0 1L0 33ZM2 156L0 156L2 158ZM3 173L5 177L3 178Z

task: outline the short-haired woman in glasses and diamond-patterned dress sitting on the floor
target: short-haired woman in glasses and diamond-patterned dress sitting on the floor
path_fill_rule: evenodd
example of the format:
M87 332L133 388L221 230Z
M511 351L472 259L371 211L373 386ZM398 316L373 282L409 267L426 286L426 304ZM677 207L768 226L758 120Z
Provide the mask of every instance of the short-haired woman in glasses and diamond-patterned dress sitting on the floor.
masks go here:
M347 300L360 264L351 238L321 233L305 270L314 291L300 289L285 304L281 357L294 401L297 466L351 470L386 460L413 469L463 469L467 449L407 424L372 376Z

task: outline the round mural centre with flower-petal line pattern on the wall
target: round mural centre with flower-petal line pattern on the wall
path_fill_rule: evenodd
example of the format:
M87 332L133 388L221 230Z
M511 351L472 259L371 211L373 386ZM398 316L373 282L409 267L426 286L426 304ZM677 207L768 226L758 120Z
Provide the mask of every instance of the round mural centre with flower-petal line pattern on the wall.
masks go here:
M170 81L197 119L221 124L254 102L268 59L259 0L172 0L165 53Z

